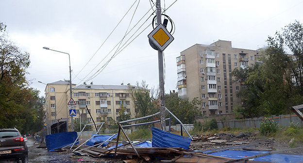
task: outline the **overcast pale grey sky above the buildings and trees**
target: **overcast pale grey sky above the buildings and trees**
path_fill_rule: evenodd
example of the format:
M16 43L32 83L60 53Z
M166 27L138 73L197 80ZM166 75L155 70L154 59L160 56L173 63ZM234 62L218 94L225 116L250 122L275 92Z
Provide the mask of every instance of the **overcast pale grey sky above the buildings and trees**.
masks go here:
M167 93L176 89L176 57L192 45L220 39L232 41L234 48L258 49L285 25L303 23L303 0L162 0L161 6L170 6L165 14L175 24L175 39L164 51ZM45 85L37 81L68 80L69 65L67 54L42 47L70 54L72 83L77 85L144 80L157 86L158 55L147 38L151 8L149 0L0 0L0 21L17 46L30 53L27 79L44 96ZM102 69L115 51L120 52Z

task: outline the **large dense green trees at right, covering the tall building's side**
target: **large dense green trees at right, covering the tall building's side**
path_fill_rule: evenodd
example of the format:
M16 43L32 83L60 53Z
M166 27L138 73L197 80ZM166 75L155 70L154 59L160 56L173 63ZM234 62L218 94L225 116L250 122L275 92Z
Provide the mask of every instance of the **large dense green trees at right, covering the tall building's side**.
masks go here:
M235 69L241 82L238 96L244 116L269 116L289 113L290 106L302 104L303 26L298 21L267 40L262 51L262 65Z

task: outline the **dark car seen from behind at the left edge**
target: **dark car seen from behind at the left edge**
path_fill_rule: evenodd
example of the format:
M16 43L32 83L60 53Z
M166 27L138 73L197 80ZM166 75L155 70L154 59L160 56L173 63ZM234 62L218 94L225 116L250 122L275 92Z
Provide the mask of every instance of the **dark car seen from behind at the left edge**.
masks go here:
M0 160L16 160L27 163L27 145L16 128L0 129Z

